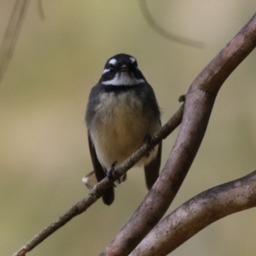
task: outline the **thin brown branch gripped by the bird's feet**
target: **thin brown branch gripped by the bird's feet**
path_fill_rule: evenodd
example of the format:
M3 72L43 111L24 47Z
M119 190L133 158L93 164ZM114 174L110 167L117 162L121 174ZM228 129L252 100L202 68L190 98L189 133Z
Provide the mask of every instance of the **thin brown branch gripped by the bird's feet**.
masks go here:
M141 148L137 150L131 157L120 165L113 173L114 177L121 177L127 170L134 166L138 160L154 146L164 138L166 138L172 131L174 131L178 125L180 125L183 117L183 105L177 110L171 119L164 125L160 131L154 134L152 137L151 145L144 143ZM28 241L25 246L21 247L20 250L14 254L14 256L24 256L27 252L30 252L32 248L36 247L40 242L44 241L48 236L53 234L56 230L59 230L61 226L67 224L69 220L86 211L94 202L102 196L104 189L111 185L108 178L104 178L100 183L97 183L93 189L90 190L90 194L73 205L67 212L65 212L60 218L56 219L55 222L49 224L43 231L37 236L34 236L31 241Z

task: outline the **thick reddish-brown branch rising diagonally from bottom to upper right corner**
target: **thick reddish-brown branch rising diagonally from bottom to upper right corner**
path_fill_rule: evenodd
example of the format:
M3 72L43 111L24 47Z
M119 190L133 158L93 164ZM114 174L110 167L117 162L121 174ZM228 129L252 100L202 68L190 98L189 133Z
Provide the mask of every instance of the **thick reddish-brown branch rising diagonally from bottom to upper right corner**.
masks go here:
M256 46L256 15L189 87L183 121L164 170L128 224L101 255L128 255L172 203L201 145L218 90Z

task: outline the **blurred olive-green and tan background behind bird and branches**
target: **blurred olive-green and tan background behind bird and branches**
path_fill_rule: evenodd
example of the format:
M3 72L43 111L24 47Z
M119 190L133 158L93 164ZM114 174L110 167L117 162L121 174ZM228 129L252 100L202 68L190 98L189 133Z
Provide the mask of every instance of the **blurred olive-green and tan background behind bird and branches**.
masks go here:
M37 1L31 2L0 84L0 255L15 253L87 195L81 178L92 166L84 110L110 56L123 52L137 58L164 124L177 110L178 96L256 9L254 0L148 1L160 26L206 45L195 49L155 33L137 1L42 2L46 20L39 18ZM0 1L1 40L14 4ZM199 153L168 212L255 169L255 70L253 52L220 90ZM176 135L164 141L162 163ZM131 170L116 189L113 206L97 201L29 255L101 253L146 194L143 170ZM255 213L251 209L210 225L172 255L255 255Z

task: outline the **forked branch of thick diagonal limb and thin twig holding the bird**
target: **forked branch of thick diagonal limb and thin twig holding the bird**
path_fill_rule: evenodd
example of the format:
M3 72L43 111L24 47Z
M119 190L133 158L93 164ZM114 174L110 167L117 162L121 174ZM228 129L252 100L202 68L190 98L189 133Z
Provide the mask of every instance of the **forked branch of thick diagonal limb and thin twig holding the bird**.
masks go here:
M161 139L165 138L181 122L182 125L177 136L177 141L172 148L166 166L161 172L159 179L150 190L141 206L134 213L128 224L121 230L117 238L106 249L102 255L128 255L137 247L150 230L154 228L172 203L178 189L183 183L184 177L189 172L198 148L201 145L207 129L208 119L212 112L213 103L218 90L227 79L230 73L243 61L256 45L256 15L253 16L241 32L228 44L201 72L201 74L191 84L186 101L168 125L154 135L151 146L143 144L142 148L132 154L128 160L116 169L113 177L119 177L131 168L143 155L153 148ZM36 247L41 241L50 236L55 230L69 220L84 212L99 197L104 189L110 185L108 178L97 183L90 190L90 194L71 207L65 214L50 224L31 241L27 242L16 256L25 255Z

